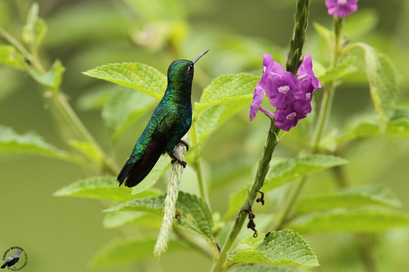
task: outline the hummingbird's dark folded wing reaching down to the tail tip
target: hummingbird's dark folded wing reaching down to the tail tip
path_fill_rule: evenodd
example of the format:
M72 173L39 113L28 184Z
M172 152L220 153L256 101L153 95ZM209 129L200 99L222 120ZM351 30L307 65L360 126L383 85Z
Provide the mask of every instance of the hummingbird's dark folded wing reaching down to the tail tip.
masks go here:
M178 115L176 111L166 111L166 114L164 114L156 128L153 130L143 157L134 163L130 163L128 160L122 168L118 176L120 184L122 184L127 177L125 186L133 187L139 184L149 174L164 152L165 146L172 135L175 124L177 123L177 118Z

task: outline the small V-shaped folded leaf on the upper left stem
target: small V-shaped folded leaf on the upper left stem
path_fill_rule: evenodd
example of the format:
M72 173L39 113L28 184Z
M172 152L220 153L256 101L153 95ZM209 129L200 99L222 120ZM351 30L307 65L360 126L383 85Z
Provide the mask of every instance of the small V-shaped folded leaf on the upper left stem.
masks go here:
M54 92L58 90L62 81L62 74L65 71L61 61L55 60L53 66L44 75L40 75L32 66L27 65L28 73L38 83L50 87Z

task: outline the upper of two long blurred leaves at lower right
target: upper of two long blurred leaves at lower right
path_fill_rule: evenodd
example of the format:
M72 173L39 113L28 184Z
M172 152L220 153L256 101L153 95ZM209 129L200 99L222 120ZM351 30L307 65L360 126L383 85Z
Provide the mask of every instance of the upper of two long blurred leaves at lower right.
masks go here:
M390 189L372 184L347 188L336 194L305 197L297 203L294 213L305 214L333 208L353 208L369 205L400 207L402 204Z

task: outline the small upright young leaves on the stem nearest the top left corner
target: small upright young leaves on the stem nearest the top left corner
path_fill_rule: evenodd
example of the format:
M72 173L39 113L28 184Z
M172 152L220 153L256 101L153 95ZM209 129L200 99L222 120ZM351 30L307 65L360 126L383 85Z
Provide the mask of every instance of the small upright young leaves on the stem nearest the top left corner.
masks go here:
M27 14L27 23L22 28L22 38L33 47L37 47L46 36L47 25L38 18L38 4L33 3Z

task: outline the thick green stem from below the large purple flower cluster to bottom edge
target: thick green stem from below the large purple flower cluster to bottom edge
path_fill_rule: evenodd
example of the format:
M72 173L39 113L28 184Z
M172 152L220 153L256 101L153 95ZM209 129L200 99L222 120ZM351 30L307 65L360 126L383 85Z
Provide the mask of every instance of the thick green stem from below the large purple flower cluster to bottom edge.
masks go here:
M278 143L278 134L280 129L274 125L275 120L271 119L270 128L267 133L267 139L264 144L263 154L259 161L257 168L257 174L254 178L252 187L250 188L247 197L241 206L240 210L247 210L248 207L251 207L257 197L258 190L263 187L265 176L270 166L272 152ZM223 267L224 261L226 259L227 253L232 247L234 241L236 240L237 235L239 234L241 228L243 227L244 221L246 220L247 214L245 212L239 212L234 222L234 226L229 233L229 236L226 242L223 245L223 248L220 252L219 257L213 265L212 271L220 271Z

